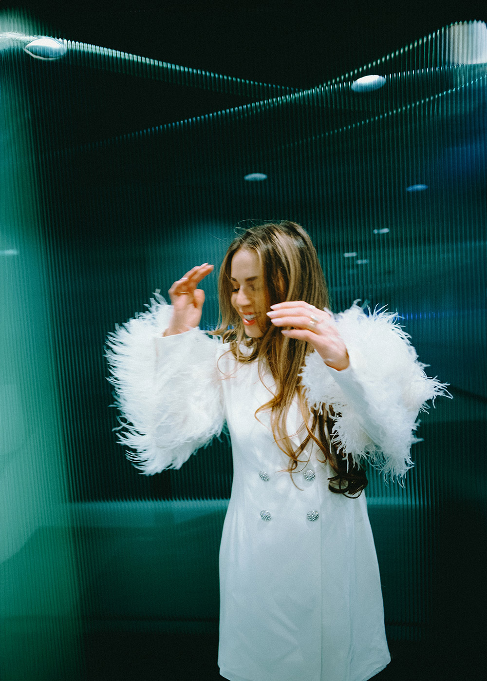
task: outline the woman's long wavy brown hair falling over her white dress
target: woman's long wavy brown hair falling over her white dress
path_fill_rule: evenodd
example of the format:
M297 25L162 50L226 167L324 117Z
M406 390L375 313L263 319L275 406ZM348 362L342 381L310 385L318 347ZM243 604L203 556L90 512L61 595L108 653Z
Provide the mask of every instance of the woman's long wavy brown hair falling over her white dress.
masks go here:
M269 305L286 300L305 300L317 308L328 308L328 288L311 239L301 225L288 221L250 227L237 236L226 251L220 268L220 321L213 333L221 336L224 343L229 343L229 351L239 362L258 361L261 377L267 367L271 370L275 394L257 409L255 415L258 418L260 411L271 410L273 437L278 447L289 457L287 470L291 477L298 466L309 461L309 458L307 461L301 460L300 455L312 440L323 454L320 461L328 461L335 472L329 478L331 492L358 496L367 486L367 476L350 456L345 456L330 443L336 417L333 405L323 405L318 411L309 409L305 402L300 373L306 356L314 348L303 340L283 336L270 321L262 329L260 338L248 337L241 318L231 304L231 264L239 249L257 253L263 268ZM243 352L242 347L246 348ZM286 432L286 418L296 395L303 415L303 426L299 432L306 433L298 447L295 447Z

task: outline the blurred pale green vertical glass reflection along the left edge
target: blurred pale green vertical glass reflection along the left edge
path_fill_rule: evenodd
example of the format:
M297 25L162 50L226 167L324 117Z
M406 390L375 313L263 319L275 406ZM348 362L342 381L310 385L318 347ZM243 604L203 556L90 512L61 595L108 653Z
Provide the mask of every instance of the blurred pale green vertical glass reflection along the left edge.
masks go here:
M55 299L41 229L31 93L8 38L16 27L15 16L0 17L0 674L5 681L76 679L78 577Z

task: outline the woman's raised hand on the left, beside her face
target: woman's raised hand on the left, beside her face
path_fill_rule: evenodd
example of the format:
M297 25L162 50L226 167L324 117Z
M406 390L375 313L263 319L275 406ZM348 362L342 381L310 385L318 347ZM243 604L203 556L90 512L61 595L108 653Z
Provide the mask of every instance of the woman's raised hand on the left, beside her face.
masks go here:
M199 325L205 302L205 291L198 289L197 285L213 269L213 265L205 262L203 265L193 267L181 279L173 283L169 289L173 316L164 332L165 336L182 334Z

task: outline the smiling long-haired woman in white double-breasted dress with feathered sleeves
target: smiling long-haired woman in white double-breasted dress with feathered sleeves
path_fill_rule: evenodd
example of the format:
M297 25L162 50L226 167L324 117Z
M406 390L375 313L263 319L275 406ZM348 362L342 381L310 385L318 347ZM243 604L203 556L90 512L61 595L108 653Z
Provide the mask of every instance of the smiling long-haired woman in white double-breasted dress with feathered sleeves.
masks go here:
M363 464L403 476L416 417L445 394L388 313L334 317L309 236L248 229L220 269L222 321L198 328L213 269L192 268L110 338L127 426L147 475L231 435L220 547L220 674L231 681L365 681L388 664Z

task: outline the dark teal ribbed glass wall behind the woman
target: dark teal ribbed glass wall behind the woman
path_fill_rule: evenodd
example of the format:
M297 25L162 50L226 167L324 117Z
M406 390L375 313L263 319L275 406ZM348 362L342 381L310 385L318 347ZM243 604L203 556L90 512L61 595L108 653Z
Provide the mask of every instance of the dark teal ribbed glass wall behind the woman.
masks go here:
M454 399L422 417L405 486L370 471L367 497L390 641L447 649L455 622L473 654L486 26L441 29L299 91L63 40L29 47L43 27L0 22L1 678L90 678L97 633L216 631L229 442L139 475L112 432L103 344L152 291L218 266L235 229L269 219L307 228L335 310L397 311L451 384ZM375 89L359 80L375 74ZM204 287L209 328L215 273Z

